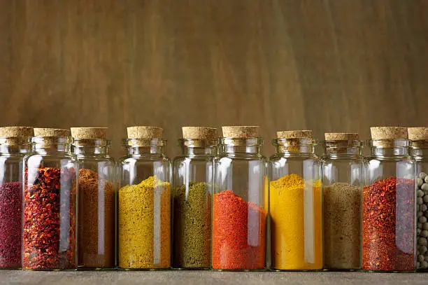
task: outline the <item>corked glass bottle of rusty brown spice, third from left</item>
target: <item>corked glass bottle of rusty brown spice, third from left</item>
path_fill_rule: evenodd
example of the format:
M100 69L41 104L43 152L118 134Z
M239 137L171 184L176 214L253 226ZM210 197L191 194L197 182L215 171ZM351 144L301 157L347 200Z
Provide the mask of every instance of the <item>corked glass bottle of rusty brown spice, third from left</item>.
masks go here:
M78 170L78 267L115 266L115 162L106 127L71 127Z

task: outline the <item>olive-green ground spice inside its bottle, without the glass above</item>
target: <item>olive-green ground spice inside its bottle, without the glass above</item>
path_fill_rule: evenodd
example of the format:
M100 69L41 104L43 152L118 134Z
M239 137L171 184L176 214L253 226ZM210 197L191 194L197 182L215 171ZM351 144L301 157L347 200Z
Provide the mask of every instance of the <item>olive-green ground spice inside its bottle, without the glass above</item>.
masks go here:
M173 193L174 267L211 266L211 194L205 182L190 182Z

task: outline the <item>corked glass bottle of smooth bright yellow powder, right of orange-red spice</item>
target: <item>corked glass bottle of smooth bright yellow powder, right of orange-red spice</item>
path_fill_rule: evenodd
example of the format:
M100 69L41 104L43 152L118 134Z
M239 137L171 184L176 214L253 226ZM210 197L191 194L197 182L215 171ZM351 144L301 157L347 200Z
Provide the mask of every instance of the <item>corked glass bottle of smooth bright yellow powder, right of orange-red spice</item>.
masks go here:
M269 160L271 268L322 269L321 164L311 130L278 132Z

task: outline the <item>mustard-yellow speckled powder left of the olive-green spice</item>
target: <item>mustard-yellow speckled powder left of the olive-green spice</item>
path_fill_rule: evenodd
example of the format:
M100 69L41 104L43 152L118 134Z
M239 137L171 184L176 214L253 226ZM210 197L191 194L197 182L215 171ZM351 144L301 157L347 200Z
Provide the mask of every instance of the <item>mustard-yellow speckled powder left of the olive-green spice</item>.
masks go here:
M150 176L120 188L118 211L119 267L169 267L171 184Z

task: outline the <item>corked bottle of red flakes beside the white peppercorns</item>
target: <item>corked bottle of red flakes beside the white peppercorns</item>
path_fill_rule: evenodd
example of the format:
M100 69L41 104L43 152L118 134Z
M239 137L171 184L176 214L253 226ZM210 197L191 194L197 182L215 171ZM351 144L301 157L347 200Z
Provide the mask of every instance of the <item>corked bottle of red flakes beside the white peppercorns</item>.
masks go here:
M415 162L405 127L371 127L364 162L362 270L415 270Z

